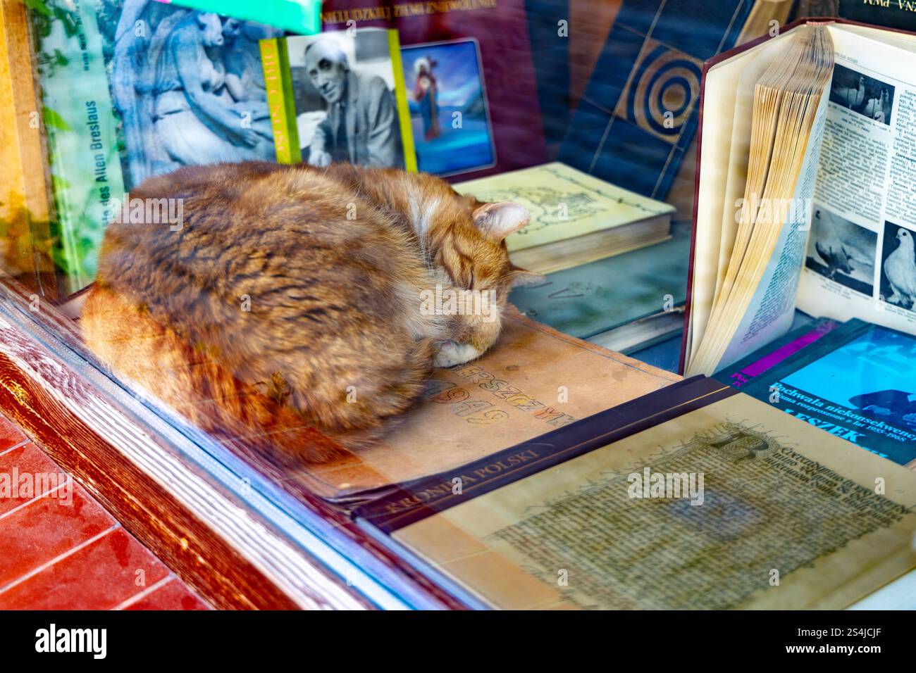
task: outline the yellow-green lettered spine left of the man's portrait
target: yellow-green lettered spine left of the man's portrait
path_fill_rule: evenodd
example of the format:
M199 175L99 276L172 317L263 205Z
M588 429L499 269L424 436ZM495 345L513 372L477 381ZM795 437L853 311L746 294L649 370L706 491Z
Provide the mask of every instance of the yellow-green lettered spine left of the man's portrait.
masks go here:
M261 40L261 63L267 86L267 107L274 132L274 148L281 164L299 164L302 153L296 127L295 99L284 38Z

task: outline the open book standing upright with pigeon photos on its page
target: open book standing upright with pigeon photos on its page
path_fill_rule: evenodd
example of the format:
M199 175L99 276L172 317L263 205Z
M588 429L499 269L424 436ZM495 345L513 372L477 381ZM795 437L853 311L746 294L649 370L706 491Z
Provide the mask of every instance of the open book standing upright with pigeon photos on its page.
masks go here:
M683 344L714 371L794 310L916 332L916 36L805 21L706 65Z

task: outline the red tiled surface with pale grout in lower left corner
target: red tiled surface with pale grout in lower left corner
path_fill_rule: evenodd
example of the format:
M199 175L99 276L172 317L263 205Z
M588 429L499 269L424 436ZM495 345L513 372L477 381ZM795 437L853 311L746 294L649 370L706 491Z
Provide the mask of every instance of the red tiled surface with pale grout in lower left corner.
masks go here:
M0 610L209 610L0 416Z

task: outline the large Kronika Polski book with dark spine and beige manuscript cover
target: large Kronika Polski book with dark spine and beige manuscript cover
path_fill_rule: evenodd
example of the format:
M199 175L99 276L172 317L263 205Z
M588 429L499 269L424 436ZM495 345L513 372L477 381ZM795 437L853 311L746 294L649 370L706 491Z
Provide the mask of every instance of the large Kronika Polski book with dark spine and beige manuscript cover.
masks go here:
M914 505L913 472L697 377L356 517L474 606L839 609L916 567Z

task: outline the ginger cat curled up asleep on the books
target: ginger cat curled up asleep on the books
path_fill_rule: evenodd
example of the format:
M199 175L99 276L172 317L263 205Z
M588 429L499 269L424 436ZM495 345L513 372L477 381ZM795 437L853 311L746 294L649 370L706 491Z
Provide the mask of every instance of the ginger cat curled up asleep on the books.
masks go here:
M180 199L182 221L108 226L87 345L202 429L269 436L295 460L331 458L324 436L371 441L419 400L434 364L484 353L528 276L504 243L524 208L424 174L219 164L130 197ZM422 310L437 289L495 302L486 315Z

